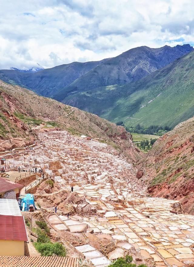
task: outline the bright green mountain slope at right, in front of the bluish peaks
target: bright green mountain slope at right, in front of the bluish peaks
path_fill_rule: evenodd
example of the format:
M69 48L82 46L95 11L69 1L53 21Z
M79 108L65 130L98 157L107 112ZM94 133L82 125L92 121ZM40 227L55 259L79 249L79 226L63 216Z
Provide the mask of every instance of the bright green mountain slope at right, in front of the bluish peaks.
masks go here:
M77 106L125 126L173 127L194 115L194 52L145 78L123 86L107 86L68 96Z

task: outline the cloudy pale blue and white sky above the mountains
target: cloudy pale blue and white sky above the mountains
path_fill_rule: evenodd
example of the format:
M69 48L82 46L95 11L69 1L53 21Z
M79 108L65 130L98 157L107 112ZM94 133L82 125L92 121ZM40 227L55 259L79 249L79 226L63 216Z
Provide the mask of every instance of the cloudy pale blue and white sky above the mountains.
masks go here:
M0 0L0 69L194 45L193 0Z

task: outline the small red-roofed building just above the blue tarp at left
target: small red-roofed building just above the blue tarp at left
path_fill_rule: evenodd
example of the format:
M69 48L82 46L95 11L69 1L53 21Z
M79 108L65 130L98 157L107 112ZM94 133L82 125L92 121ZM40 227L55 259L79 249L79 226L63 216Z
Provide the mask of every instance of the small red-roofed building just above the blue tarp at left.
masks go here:
M0 177L0 198L3 198L3 195L9 191L15 191L16 198L18 198L22 187L24 185Z

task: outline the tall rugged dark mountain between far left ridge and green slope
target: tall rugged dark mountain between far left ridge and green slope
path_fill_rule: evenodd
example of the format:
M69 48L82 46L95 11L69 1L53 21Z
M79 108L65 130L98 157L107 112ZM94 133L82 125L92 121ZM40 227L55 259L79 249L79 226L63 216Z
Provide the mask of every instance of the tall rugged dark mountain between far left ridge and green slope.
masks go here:
M140 80L192 50L193 48L189 44L160 48L140 46L130 49L91 69L69 86L62 88L53 98L62 101L69 94L76 92L85 92L113 84L123 85Z

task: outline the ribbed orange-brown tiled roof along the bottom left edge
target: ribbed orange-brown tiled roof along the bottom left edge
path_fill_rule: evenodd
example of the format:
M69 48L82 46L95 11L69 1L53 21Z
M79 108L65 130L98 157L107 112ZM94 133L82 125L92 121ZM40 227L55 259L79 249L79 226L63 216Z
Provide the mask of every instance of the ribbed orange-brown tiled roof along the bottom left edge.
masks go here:
M0 267L79 267L78 258L66 258L58 256L35 257L0 256Z

